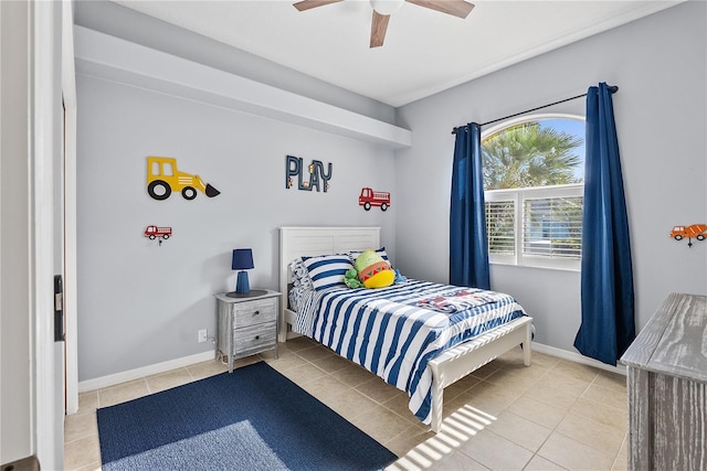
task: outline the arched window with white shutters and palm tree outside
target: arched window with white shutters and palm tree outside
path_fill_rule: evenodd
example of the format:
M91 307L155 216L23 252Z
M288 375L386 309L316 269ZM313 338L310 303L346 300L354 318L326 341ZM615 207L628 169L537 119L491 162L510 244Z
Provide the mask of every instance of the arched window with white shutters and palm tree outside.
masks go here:
M483 138L489 261L579 269L584 121L525 117Z

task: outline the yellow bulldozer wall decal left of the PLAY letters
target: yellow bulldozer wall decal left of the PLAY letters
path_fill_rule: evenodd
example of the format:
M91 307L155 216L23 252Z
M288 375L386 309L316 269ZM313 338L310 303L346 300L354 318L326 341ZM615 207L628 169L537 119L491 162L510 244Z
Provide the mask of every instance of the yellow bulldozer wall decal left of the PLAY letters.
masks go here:
M197 190L209 197L221 192L199 175L181 172L177 169L177 159L171 157L147 158L147 193L155 200L167 200L173 191L178 191L184 200L197 197Z

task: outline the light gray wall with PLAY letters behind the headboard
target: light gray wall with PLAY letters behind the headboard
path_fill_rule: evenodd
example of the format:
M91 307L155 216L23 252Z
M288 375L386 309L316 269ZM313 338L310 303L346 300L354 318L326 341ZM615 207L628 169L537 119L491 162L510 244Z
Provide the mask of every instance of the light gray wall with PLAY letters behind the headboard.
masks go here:
M234 289L231 250L252 247L251 287L276 289L279 226L381 226L394 257L395 205L358 206L362 186L395 197L392 150L85 75L77 94L80 381L212 349L197 331L214 334L213 295ZM287 154L331 162L328 192L285 189ZM152 200L147 156L221 194Z

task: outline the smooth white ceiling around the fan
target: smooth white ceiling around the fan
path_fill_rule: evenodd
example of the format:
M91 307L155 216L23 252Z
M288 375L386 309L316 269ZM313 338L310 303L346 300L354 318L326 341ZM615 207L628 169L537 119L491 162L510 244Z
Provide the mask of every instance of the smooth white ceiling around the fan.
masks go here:
M464 20L404 3L369 49L369 1L293 1L116 3L399 107L680 2L477 0Z

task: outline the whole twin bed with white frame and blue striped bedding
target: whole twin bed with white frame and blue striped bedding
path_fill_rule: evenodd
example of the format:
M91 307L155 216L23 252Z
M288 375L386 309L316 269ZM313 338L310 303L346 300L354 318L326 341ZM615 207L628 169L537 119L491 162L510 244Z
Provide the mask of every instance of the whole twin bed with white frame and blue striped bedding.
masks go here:
M405 390L434 432L446 386L518 344L530 365L532 319L510 296L413 279L349 289L338 277L366 249L387 259L379 227L281 227L279 342L307 335Z

